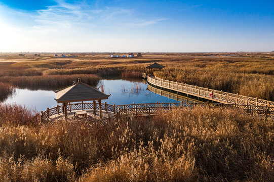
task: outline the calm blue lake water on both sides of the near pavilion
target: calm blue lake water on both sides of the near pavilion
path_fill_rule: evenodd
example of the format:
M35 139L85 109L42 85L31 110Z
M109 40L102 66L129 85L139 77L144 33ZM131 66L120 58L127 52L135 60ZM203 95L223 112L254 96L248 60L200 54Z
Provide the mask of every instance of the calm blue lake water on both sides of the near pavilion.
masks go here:
M105 94L111 94L107 100L102 103L123 105L135 103L155 103L155 102L177 102L158 94L154 94L147 89L147 84L141 79L138 80L122 80L122 79L102 79L96 87ZM16 94L9 97L4 103L16 103L25 105L28 108L44 111L48 107L52 108L57 105L55 93L53 90L32 90L17 88ZM92 102L92 101L91 101Z

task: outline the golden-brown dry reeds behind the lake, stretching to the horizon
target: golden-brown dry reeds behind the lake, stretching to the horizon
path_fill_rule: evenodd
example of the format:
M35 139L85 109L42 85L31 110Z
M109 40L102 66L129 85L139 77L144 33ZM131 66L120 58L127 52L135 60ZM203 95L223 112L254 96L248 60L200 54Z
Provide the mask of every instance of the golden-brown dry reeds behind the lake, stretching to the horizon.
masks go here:
M157 61L166 66L163 71L154 71L161 78L274 101L274 54L222 56L226 54L229 53L159 53L140 58L108 58L109 54L71 54L76 56L71 58L0 55L0 80L16 86L50 87L65 86L69 83L63 81L65 78L78 75L94 80L109 76L139 78L146 66Z

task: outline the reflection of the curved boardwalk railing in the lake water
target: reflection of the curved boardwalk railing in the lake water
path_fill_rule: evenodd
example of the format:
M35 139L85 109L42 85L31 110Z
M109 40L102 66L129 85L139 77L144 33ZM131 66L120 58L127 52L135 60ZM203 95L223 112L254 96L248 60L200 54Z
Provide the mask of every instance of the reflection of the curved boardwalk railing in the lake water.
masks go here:
M147 84L147 88L155 94L159 94L161 96L164 96L164 97L167 97L169 99L176 100L176 101L180 101L180 102L183 102L183 103L185 103L185 102L201 102L199 100L191 99L191 98L188 98L188 97L180 96L178 94L173 94L173 93L167 92L167 91L162 90L162 89L155 88L155 87L151 86L150 84Z

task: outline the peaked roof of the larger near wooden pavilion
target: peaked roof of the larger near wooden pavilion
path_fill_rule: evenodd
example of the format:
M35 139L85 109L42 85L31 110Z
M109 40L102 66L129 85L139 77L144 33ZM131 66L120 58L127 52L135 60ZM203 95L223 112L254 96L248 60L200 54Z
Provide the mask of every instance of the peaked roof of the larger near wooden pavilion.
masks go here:
M108 99L110 95L102 93L98 88L83 82L64 87L55 91L58 103L93 101Z

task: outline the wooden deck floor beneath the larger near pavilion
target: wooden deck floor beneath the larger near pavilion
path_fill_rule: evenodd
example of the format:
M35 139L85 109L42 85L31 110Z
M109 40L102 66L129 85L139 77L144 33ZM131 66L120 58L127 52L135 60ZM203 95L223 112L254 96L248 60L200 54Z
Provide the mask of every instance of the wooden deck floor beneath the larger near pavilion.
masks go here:
M79 110L82 111L82 110ZM96 119L100 119L99 117L99 110L96 110L96 114L93 113L93 110L85 110L87 111L88 115L90 115L92 117L92 119L96 120ZM72 117L74 116L74 113L76 111L71 111L67 113L67 119L68 121L72 120ZM109 112L109 111L102 111L102 119L104 118L108 118L108 116L113 116L114 113ZM63 113L60 114L55 114L53 116L50 116L50 121L58 121L58 120L63 120L64 119L64 115Z

